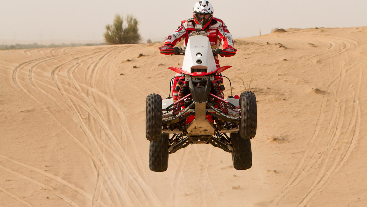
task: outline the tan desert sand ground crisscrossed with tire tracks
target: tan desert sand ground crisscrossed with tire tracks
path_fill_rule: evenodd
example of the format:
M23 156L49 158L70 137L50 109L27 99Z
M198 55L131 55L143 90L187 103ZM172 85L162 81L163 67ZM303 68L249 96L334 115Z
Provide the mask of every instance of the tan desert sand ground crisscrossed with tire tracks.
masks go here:
M0 51L0 206L367 206L367 27L286 31L220 58L257 97L244 171L206 144L149 170L146 96L183 60L162 43Z

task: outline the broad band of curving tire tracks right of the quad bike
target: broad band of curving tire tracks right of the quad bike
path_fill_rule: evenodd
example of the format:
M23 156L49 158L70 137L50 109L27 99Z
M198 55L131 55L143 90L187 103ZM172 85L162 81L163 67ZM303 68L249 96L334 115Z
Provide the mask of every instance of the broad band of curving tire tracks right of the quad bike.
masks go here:
M340 39L335 38L334 41L338 42ZM340 58L340 60L349 61L350 57L346 53L347 49L350 48L351 44L354 48L358 46L352 40L349 40L351 44L345 43L346 39L342 39L342 41L342 47L340 47L339 51L320 58L322 60L330 59L331 70L335 67L333 64L334 59L339 60ZM354 54L353 51L349 53ZM361 57L358 57L360 61L356 64L349 65L346 68L340 66L340 72L337 73L337 76L328 85L327 93L324 95L321 103L316 130L290 179L269 206L281 206L283 200L287 200L287 197L291 196L290 194L299 190L304 192L304 197L301 198L297 206L309 205L348 160L357 142L360 125L359 90L362 76L361 64L364 64L365 59L361 61ZM348 64L349 62L346 65ZM356 74L358 77L357 81L349 83L345 81L345 75L348 73ZM351 90L353 92L353 101L349 101L349 103L339 101L335 104L334 100L345 99ZM331 112L330 108L332 108ZM351 110L348 110L348 108L351 108ZM325 121L328 121L327 125L323 124ZM343 142L346 142L347 145ZM326 144L326 147L323 147L324 144ZM305 183L310 179L313 182L307 187L308 184ZM308 189L306 192L305 187Z

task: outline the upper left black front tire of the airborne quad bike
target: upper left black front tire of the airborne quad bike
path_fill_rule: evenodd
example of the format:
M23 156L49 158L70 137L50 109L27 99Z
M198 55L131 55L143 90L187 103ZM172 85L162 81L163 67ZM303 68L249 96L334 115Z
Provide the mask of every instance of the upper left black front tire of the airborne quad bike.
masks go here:
M157 141L162 133L162 98L159 94L146 97L145 136L149 141Z

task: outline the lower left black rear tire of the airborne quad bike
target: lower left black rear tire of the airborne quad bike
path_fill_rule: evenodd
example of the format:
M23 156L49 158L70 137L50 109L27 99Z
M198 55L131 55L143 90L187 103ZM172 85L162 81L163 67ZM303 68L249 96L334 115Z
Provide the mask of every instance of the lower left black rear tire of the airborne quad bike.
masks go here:
M164 172L168 167L168 138L170 135L161 134L158 141L150 141L149 168L154 172Z

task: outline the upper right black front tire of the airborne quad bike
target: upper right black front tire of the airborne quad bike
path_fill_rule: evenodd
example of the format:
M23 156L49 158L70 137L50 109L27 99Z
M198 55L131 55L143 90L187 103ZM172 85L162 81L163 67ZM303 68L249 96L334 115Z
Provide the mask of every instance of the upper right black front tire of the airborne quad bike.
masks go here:
M255 94L250 91L241 93L240 106L240 135L245 139L252 139L256 135L257 127L257 106Z

